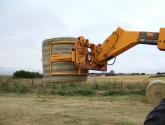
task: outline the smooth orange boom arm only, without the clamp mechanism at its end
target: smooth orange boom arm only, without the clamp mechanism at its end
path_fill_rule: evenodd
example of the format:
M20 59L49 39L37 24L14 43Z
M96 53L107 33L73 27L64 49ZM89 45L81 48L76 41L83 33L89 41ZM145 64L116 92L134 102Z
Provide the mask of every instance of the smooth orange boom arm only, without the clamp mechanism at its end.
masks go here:
M118 28L102 44L103 52L99 54L98 60L103 61L106 54L108 59L112 59L137 44L157 45L160 50L165 50L165 29L160 29L157 33L125 31Z

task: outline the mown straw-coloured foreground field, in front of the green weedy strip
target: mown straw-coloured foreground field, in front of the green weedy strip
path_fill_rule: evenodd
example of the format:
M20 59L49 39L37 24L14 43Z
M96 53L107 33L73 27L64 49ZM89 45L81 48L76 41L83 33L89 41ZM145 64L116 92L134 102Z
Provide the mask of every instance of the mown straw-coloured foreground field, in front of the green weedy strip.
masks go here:
M143 125L144 96L0 95L0 125Z

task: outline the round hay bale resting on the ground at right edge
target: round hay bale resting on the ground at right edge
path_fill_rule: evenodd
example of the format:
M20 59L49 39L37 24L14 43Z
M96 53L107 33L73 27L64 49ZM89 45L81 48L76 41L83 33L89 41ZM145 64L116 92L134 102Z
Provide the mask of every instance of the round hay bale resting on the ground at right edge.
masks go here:
M150 104L158 104L161 99L165 98L165 82L154 80L146 88L146 100Z

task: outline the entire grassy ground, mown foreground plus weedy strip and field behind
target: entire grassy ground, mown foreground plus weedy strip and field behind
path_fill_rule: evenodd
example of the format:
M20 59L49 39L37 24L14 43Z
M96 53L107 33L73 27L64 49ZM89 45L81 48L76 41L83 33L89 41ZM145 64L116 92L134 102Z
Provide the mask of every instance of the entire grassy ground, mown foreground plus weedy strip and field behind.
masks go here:
M0 125L143 125L147 84L164 76L89 77L46 86L0 77Z

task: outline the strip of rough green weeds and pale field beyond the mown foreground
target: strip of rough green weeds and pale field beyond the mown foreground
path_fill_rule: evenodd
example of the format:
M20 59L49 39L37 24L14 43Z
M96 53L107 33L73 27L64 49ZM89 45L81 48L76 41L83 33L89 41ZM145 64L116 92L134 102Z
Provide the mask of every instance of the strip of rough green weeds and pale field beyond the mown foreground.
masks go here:
M88 77L86 82L66 84L44 84L42 79L12 79L0 77L0 92L37 92L53 95L114 95L145 94L152 80L165 80L165 76L132 75L110 77Z

